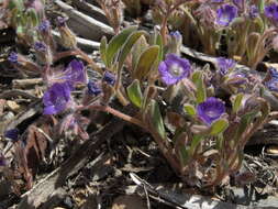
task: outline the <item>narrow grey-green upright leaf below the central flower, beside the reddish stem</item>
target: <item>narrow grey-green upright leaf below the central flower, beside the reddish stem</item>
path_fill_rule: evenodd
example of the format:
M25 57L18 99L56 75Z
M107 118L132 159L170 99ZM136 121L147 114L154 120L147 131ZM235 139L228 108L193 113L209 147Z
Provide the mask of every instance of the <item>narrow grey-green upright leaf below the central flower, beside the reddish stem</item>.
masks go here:
M162 139L165 139L166 133L163 117L160 114L159 106L154 99L152 99L149 102L149 117L155 131L159 134Z

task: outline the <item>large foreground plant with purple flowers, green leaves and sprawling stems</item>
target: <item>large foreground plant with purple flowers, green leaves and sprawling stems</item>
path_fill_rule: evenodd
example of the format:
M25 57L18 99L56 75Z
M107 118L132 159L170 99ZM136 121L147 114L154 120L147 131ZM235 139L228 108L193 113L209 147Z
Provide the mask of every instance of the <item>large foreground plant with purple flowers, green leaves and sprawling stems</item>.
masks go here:
M181 2L166 3L171 12ZM209 65L193 65L180 54L181 34L178 31L168 34L164 29L168 18L164 19L160 31L148 33L130 26L110 41L103 37L100 44L103 68L77 48L76 36L65 19L57 21L62 44L68 51L57 52L51 24L43 20L36 28L38 36L33 45L36 63L14 52L8 59L23 74L43 78L46 86L43 114L55 119L56 134L89 140L86 127L90 118L81 112L111 113L149 132L173 169L187 184L213 187L240 169L248 140L278 117L264 99L266 94L277 97L278 72L269 68L265 78L256 77L238 70L235 61L224 57L218 58L215 70ZM79 59L73 59L66 67L55 67L55 62L69 55ZM88 78L87 67L92 67L98 76ZM81 101L73 96L80 86L84 87ZM129 116L121 108L113 108L111 103L115 99L122 107L137 111ZM8 130L5 136L12 139L15 132ZM35 130L32 133L38 134ZM20 148L24 144L18 145ZM2 155L0 166L8 166ZM32 185L30 173L25 179Z

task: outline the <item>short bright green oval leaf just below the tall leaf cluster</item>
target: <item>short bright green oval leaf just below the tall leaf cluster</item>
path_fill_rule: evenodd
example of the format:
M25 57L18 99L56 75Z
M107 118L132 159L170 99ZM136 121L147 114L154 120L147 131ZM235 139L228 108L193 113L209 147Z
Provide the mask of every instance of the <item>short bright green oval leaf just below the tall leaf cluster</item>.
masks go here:
M140 81L137 79L133 80L133 82L127 87L126 90L132 103L138 108L142 108L143 94L141 91Z

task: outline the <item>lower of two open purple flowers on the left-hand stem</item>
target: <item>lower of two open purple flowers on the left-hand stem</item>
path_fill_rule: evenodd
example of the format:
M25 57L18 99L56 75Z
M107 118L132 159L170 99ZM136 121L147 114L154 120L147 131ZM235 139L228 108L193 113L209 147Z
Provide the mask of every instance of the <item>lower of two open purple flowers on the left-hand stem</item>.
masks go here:
M67 108L70 100L70 86L68 82L54 84L43 97L44 114L62 112Z

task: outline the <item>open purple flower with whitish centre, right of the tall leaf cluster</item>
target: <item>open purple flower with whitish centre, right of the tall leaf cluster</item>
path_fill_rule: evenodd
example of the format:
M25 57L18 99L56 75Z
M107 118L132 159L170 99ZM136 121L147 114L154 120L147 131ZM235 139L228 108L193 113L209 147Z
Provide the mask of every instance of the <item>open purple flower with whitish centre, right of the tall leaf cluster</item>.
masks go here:
M159 64L158 72L166 85L174 85L190 75L191 65L186 58L168 54L166 59Z

